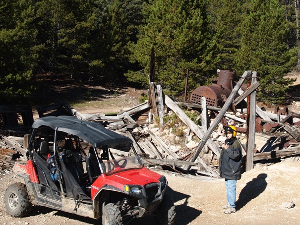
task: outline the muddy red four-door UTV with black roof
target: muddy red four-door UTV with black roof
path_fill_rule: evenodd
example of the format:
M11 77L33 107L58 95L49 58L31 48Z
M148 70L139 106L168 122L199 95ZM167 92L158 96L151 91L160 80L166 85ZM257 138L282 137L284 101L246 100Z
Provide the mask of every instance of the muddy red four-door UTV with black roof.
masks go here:
M4 196L11 216L24 217L39 205L102 218L103 225L149 214L174 224L165 176L143 166L129 138L73 116L38 118L32 128L29 160L13 167L25 184L11 184ZM115 159L112 152L120 151L127 157Z

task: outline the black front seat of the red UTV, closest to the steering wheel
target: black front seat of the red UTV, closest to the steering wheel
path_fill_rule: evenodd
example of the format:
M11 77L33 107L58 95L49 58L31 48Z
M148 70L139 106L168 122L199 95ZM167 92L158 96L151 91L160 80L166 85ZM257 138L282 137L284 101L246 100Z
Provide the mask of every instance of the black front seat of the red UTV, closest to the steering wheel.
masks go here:
M94 148L90 147L86 160L86 171L89 175L90 182L93 183L96 178L101 174L99 162L103 161L95 154Z

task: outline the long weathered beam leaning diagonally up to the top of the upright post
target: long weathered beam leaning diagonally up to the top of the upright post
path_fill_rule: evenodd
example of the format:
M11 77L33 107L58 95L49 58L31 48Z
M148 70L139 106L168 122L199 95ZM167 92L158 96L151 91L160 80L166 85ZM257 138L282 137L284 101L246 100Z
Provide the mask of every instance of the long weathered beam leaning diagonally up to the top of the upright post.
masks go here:
M201 139L201 142L199 143L199 145L196 147L193 154L191 155L191 160L190 160L191 162L195 162L195 160L197 159L197 157L198 157L199 153L201 152L203 146L205 145L205 143L209 139L210 135L212 134L212 132L214 131L216 126L219 124L219 122L223 118L224 114L227 112L228 108L230 107L230 105L233 102L233 99L234 99L235 95L237 94L238 90L240 89L241 85L243 84L244 79L247 76L247 74L248 74L248 72L245 71L244 74L241 76L239 82L236 84L235 88L232 90L232 92L231 92L230 96L227 98L227 101L225 102L222 110L220 111L220 113L216 117L213 124L208 128L208 130L205 133L204 137ZM190 168L191 167L188 166L188 167L186 167L186 170L189 170Z

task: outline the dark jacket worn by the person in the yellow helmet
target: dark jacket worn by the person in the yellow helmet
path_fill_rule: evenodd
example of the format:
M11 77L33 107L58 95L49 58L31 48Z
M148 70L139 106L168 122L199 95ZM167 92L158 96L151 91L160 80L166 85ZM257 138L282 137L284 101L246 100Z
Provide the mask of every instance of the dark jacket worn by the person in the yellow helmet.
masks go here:
M241 147L236 137L226 139L229 148L222 149L219 162L220 176L230 180L239 180L241 177Z

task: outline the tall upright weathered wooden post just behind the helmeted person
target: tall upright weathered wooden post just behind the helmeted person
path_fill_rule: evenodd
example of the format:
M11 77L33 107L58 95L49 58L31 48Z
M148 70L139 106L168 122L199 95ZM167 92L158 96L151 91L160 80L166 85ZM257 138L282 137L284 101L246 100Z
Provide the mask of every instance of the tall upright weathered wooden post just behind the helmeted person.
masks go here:
M257 72L252 73L251 84L256 82ZM247 156L246 171L253 169L254 143L255 143L255 115L256 115L256 91L250 95L250 110L248 115L248 137L247 137Z

